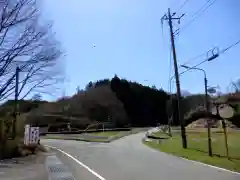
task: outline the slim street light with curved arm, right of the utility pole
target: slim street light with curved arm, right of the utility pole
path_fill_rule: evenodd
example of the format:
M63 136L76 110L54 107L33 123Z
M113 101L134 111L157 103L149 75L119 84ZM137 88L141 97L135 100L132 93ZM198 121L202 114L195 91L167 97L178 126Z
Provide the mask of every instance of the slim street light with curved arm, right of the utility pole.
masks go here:
M204 89L205 89L205 107L206 107L206 112L208 114L209 113L209 101L208 101L208 89L207 89L208 86L207 86L206 71L204 69L201 69L201 68L189 67L189 66L186 66L186 65L181 65L181 67L183 67L185 69L189 69L189 70L195 69L195 70L199 70L199 71L203 72L203 74L204 74ZM211 129L210 129L209 120L207 120L207 129L208 129L208 153L209 153L209 156L212 156Z

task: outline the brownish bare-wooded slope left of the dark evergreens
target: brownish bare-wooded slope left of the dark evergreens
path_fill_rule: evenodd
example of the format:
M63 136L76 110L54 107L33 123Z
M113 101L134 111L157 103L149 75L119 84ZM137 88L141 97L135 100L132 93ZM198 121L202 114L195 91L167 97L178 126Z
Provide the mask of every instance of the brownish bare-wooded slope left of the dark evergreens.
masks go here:
M73 126L81 129L97 121L126 124L127 120L122 103L107 85L81 91L53 103L45 103L29 112L28 117L28 121L32 123L71 122Z

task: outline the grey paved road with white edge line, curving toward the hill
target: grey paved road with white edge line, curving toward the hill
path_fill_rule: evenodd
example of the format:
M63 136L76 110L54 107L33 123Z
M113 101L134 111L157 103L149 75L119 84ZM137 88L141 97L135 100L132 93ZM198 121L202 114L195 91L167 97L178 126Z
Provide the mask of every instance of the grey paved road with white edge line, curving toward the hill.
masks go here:
M106 180L239 180L240 176L195 164L178 157L153 150L141 143L144 133L124 137L112 143L43 140L93 169ZM66 160L74 168L76 179L98 179L74 161ZM75 164L74 164L75 163Z

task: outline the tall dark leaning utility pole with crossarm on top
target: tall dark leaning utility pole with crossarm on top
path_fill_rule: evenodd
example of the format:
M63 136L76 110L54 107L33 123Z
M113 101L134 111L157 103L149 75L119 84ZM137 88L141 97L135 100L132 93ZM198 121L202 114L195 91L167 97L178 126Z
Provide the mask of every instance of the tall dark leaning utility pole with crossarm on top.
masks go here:
M178 65L177 65L177 55L176 55L174 33L173 33L173 27L172 27L172 20L178 20L178 23L180 23L180 19L184 16L184 14L182 14L180 17L174 17L175 15L176 13L171 14L170 8L168 8L168 14L167 15L165 14L162 17L162 21L167 20L169 24L169 29L170 29L170 38L171 38L171 44L172 44L173 63L174 63L176 89L177 89L178 118L181 124L182 146L183 148L187 148L185 123L184 123L183 113L181 109L181 89L180 89L180 81L179 81L179 73L178 73Z

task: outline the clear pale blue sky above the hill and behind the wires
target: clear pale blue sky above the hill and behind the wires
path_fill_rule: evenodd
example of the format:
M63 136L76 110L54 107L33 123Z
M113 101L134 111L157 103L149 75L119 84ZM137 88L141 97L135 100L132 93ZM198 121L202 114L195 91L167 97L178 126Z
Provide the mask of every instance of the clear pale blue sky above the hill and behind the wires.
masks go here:
M61 42L66 95L84 88L89 81L114 74L145 85L168 89L170 66L169 28L161 28L161 17L170 7L181 15L183 27L207 0L45 0L44 15L54 22L53 31ZM240 39L239 0L217 0L204 14L176 37L177 59L182 64L214 46L220 49ZM96 48L92 48L96 44ZM226 91L239 78L235 46L218 59L201 65L209 84ZM190 66L205 57L191 61ZM173 64L173 63L172 63ZM179 69L181 72L183 69ZM171 73L173 75L173 71ZM191 71L181 76L181 88L191 93L203 91L203 75Z

